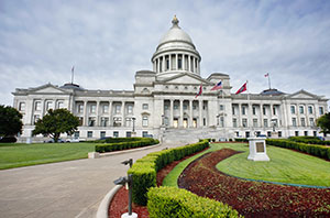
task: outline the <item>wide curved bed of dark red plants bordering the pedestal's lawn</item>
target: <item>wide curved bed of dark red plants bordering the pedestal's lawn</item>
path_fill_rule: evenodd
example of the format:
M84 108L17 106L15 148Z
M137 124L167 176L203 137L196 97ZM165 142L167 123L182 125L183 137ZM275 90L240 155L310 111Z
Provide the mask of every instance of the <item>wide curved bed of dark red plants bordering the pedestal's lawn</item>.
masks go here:
M180 175L179 187L226 203L245 217L330 216L330 188L249 182L224 175L216 168L220 161L237 153L222 149L196 160Z

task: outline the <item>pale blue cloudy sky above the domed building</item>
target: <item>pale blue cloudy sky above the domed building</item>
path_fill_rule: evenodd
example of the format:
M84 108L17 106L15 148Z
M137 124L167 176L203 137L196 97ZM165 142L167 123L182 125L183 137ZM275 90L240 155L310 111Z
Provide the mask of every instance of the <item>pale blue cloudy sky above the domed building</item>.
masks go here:
M231 92L301 89L330 98L330 1L0 0L0 105L15 88L72 80L133 90L174 14L201 55L201 77L224 73ZM329 103L329 102L328 102Z

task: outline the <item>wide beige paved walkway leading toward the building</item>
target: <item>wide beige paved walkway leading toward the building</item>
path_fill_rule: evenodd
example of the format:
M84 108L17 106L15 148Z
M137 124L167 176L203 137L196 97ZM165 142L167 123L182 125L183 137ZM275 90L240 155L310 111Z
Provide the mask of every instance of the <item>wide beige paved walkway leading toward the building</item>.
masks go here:
M113 181L127 173L120 162L172 146L0 171L0 217L95 217Z

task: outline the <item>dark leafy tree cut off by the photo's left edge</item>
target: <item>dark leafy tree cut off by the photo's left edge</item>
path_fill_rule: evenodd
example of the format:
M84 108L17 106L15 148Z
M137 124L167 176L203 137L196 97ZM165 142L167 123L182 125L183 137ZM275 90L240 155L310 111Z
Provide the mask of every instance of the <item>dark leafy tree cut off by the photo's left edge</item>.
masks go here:
M0 106L0 137L13 137L22 132L22 115L10 106Z

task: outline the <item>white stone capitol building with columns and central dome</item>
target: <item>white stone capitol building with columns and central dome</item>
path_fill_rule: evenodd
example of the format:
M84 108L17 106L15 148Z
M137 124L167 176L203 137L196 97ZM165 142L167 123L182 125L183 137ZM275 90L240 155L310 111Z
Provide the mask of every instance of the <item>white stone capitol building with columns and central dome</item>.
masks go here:
M257 134L320 135L316 120L327 112L328 99L306 90L285 94L271 88L235 95L230 75L202 78L201 55L176 17L151 61L152 70L136 72L133 90L89 90L73 83L15 89L14 108L24 123L19 141L31 138L36 120L57 108L67 108L80 121L75 134L63 134L64 139L136 135L194 142ZM222 86L211 90L220 81Z

